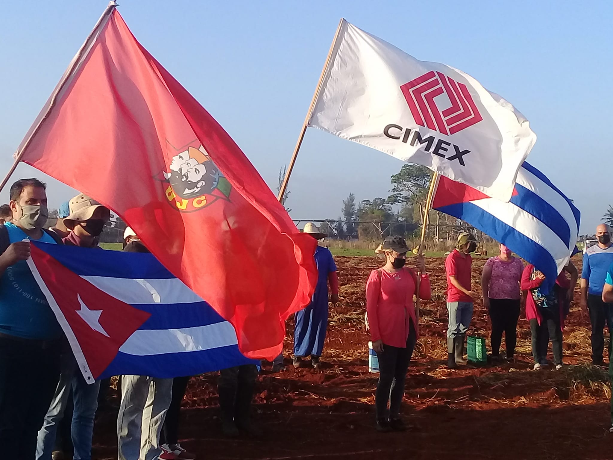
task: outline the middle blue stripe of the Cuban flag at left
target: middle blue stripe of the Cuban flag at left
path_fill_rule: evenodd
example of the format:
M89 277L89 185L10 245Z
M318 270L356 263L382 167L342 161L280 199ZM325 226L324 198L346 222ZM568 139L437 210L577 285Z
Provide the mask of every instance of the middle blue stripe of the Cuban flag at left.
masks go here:
M132 307L151 313L150 318L139 329L196 328L225 321L207 302L138 304Z

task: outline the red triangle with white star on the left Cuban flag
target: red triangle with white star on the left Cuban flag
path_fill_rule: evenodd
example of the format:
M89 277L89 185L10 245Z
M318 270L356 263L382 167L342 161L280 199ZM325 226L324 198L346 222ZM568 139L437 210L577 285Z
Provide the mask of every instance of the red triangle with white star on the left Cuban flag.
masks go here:
M151 314L105 293L35 245L30 245L30 250L40 277L97 378Z

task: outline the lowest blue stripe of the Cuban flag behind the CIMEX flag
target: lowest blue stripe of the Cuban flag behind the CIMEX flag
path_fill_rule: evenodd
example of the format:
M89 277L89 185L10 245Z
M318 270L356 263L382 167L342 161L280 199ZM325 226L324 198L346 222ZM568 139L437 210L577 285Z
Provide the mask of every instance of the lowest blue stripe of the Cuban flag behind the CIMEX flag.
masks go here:
M546 277L542 285L543 291L549 291L554 285L555 278L558 277L558 267L555 259L543 246L471 202L443 206L436 210L466 221L503 243L520 258L534 264Z

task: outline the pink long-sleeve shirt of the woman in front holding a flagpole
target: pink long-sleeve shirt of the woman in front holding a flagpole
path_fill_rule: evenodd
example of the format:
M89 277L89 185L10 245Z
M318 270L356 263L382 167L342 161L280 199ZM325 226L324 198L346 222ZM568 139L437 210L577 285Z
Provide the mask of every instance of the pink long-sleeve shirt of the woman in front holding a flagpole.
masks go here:
M418 332L413 306L416 285L417 275L408 267L395 273L384 269L370 273L366 283L366 310L373 342L381 340L392 347L406 348L411 321ZM430 279L427 274L423 274L419 298L429 300L430 297Z

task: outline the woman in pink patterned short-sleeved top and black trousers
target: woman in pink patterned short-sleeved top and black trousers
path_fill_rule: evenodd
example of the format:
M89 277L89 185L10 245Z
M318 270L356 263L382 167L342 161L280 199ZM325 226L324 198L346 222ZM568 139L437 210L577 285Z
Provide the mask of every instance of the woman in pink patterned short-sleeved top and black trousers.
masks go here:
M506 358L513 361L517 343L517 320L521 303L519 283L524 263L513 257L508 247L500 245L500 255L487 260L481 275L483 305L492 321L492 358L500 359L500 343L504 332Z

